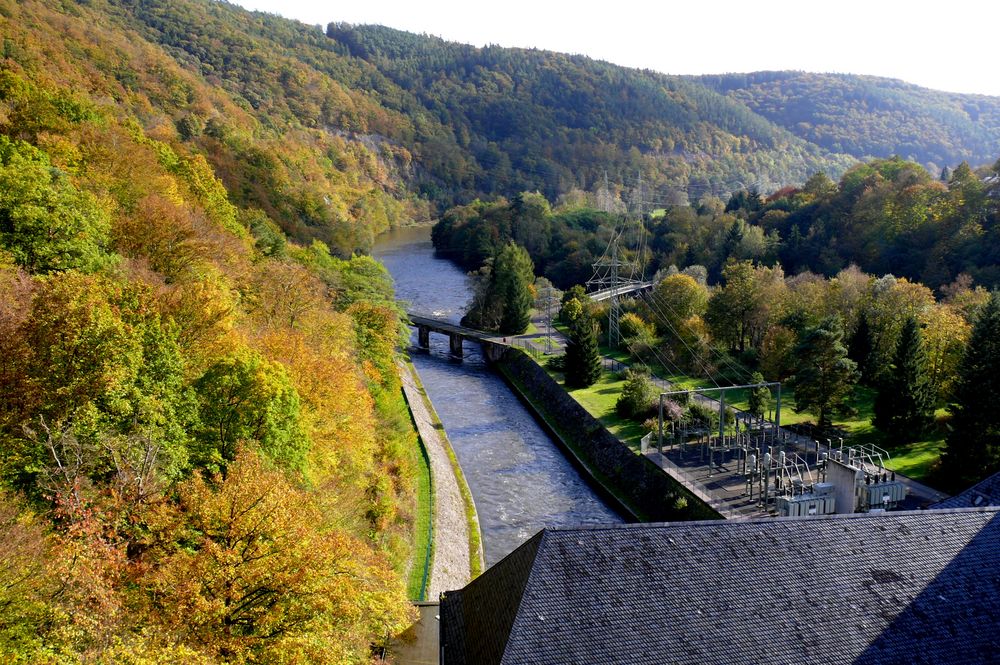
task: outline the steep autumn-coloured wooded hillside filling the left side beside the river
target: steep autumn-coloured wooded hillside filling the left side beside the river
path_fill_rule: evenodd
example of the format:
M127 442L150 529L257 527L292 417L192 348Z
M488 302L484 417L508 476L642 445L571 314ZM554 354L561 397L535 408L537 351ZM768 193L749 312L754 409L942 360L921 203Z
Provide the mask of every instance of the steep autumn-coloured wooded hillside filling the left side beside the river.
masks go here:
M411 612L400 313L276 222L365 247L396 157L269 126L103 3L3 0L0 34L0 661L369 661Z

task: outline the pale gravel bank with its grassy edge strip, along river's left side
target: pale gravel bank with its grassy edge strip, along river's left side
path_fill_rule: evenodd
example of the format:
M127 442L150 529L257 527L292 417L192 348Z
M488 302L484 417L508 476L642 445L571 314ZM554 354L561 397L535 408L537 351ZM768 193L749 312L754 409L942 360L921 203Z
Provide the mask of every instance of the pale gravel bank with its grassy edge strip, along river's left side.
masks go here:
M409 363L401 363L399 371L410 413L430 460L434 535L426 597L433 600L443 591L462 588L482 572L482 537L472 495L420 378Z

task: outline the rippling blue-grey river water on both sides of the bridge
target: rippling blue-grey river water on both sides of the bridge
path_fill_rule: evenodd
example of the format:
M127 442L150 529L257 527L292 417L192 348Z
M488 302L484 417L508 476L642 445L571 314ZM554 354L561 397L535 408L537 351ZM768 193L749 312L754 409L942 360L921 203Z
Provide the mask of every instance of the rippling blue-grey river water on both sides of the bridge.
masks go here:
M434 256L429 228L390 232L373 254L411 311L458 323L469 279ZM447 337L431 333L430 341L430 353L411 354L413 364L469 483L487 565L546 526L622 521L489 368L478 344L467 342L459 362L449 357Z

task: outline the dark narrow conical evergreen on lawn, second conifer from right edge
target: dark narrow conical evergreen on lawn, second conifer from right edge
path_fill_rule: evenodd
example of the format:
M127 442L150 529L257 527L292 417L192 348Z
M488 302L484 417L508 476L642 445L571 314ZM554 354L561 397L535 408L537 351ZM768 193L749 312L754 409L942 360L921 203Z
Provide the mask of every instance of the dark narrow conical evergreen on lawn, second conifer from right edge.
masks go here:
M875 426L895 441L912 440L934 416L934 391L927 374L920 324L907 319L896 355L875 400Z

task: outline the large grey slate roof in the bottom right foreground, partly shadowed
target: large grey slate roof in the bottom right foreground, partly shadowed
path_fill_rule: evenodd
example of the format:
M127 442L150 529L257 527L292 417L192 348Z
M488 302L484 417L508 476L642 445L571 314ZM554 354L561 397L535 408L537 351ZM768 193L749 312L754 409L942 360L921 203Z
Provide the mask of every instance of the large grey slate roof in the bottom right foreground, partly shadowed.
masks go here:
M442 665L1000 662L1000 510L545 529L441 620Z

